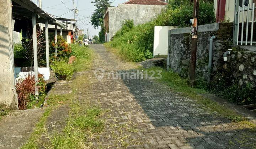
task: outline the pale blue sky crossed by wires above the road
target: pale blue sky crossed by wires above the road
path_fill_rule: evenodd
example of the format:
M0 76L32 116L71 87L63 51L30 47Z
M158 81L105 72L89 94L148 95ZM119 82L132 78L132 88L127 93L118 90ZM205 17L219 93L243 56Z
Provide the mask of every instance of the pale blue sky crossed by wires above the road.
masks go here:
M38 0L32 0L35 4L38 4ZM69 8L73 9L72 0L62 0L64 4ZM75 7L79 10L79 18L76 16L78 20L78 26L80 29L86 29L86 24L89 26L90 36L98 35L100 28L94 29L90 23L90 16L95 10L94 4L91 3L93 0L75 0ZM118 4L122 4L128 0L110 0L114 1L112 6L118 6ZM60 0L42 0L42 9L47 13L50 13L55 16L61 16L63 18L74 18L73 11L70 11L66 8ZM70 11L70 12L68 12ZM64 14L66 13L66 14Z

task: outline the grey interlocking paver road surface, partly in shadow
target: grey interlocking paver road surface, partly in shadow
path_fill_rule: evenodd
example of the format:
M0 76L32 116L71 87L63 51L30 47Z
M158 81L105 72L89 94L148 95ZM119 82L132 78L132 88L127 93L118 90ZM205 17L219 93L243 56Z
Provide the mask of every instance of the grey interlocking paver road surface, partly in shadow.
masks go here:
M137 66L119 59L103 45L90 46L96 53L92 70L137 72ZM108 79L105 75L99 81L93 71L82 73L89 77L91 86L78 90L78 98L86 96L103 109L109 109L102 116L108 125L98 138L92 138L96 141L95 148L234 148L230 140L247 132L155 80Z

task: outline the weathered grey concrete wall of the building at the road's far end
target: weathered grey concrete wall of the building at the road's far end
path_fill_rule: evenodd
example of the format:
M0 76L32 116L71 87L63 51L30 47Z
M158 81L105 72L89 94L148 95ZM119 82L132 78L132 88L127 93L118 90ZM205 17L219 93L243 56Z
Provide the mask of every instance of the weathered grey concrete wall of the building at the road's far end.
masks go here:
M133 20L135 26L143 24L159 15L165 7L165 5L136 4L119 4L118 7L108 7L109 40L122 27L124 20Z

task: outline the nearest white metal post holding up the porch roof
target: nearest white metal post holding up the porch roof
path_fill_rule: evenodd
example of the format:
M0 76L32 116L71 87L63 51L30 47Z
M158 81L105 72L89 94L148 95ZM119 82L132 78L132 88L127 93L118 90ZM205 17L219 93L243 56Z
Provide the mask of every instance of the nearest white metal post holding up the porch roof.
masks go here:
M35 79L35 95L38 99L38 64L37 64L37 31L36 31L36 14L32 15L32 28L33 28L33 54L34 54L34 79Z

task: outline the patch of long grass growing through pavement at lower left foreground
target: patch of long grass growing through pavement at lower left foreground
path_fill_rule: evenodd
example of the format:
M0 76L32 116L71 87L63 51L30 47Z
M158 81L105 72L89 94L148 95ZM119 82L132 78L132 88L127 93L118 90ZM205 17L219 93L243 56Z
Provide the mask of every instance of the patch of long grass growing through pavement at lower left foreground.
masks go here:
M77 104L73 101L64 131L49 135L45 129L50 139L50 144L46 148L89 148L90 143L86 140L94 133L103 130L103 120L98 117L103 114L103 110L97 106L83 109L84 104Z

